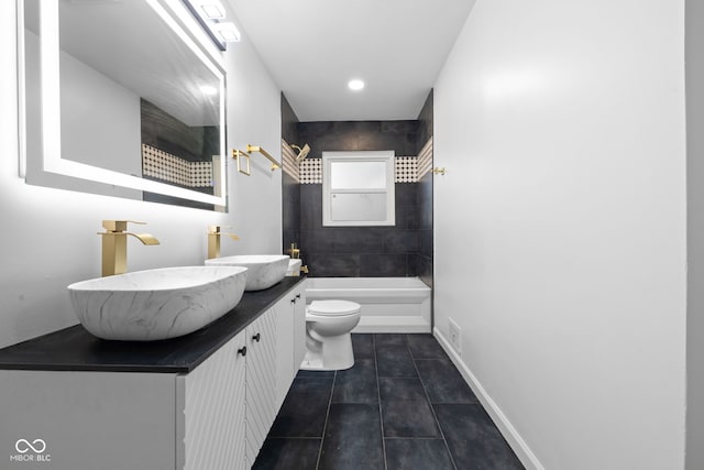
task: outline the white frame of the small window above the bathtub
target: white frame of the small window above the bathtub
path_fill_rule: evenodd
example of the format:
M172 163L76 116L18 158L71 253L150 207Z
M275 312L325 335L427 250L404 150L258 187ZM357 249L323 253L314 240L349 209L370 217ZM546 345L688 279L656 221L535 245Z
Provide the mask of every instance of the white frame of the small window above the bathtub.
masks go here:
M334 162L383 162L386 164L383 188L331 188L331 164ZM394 151L322 152L322 225L323 227L376 227L396 225ZM385 194L386 215L384 220L336 220L331 200L336 194Z

